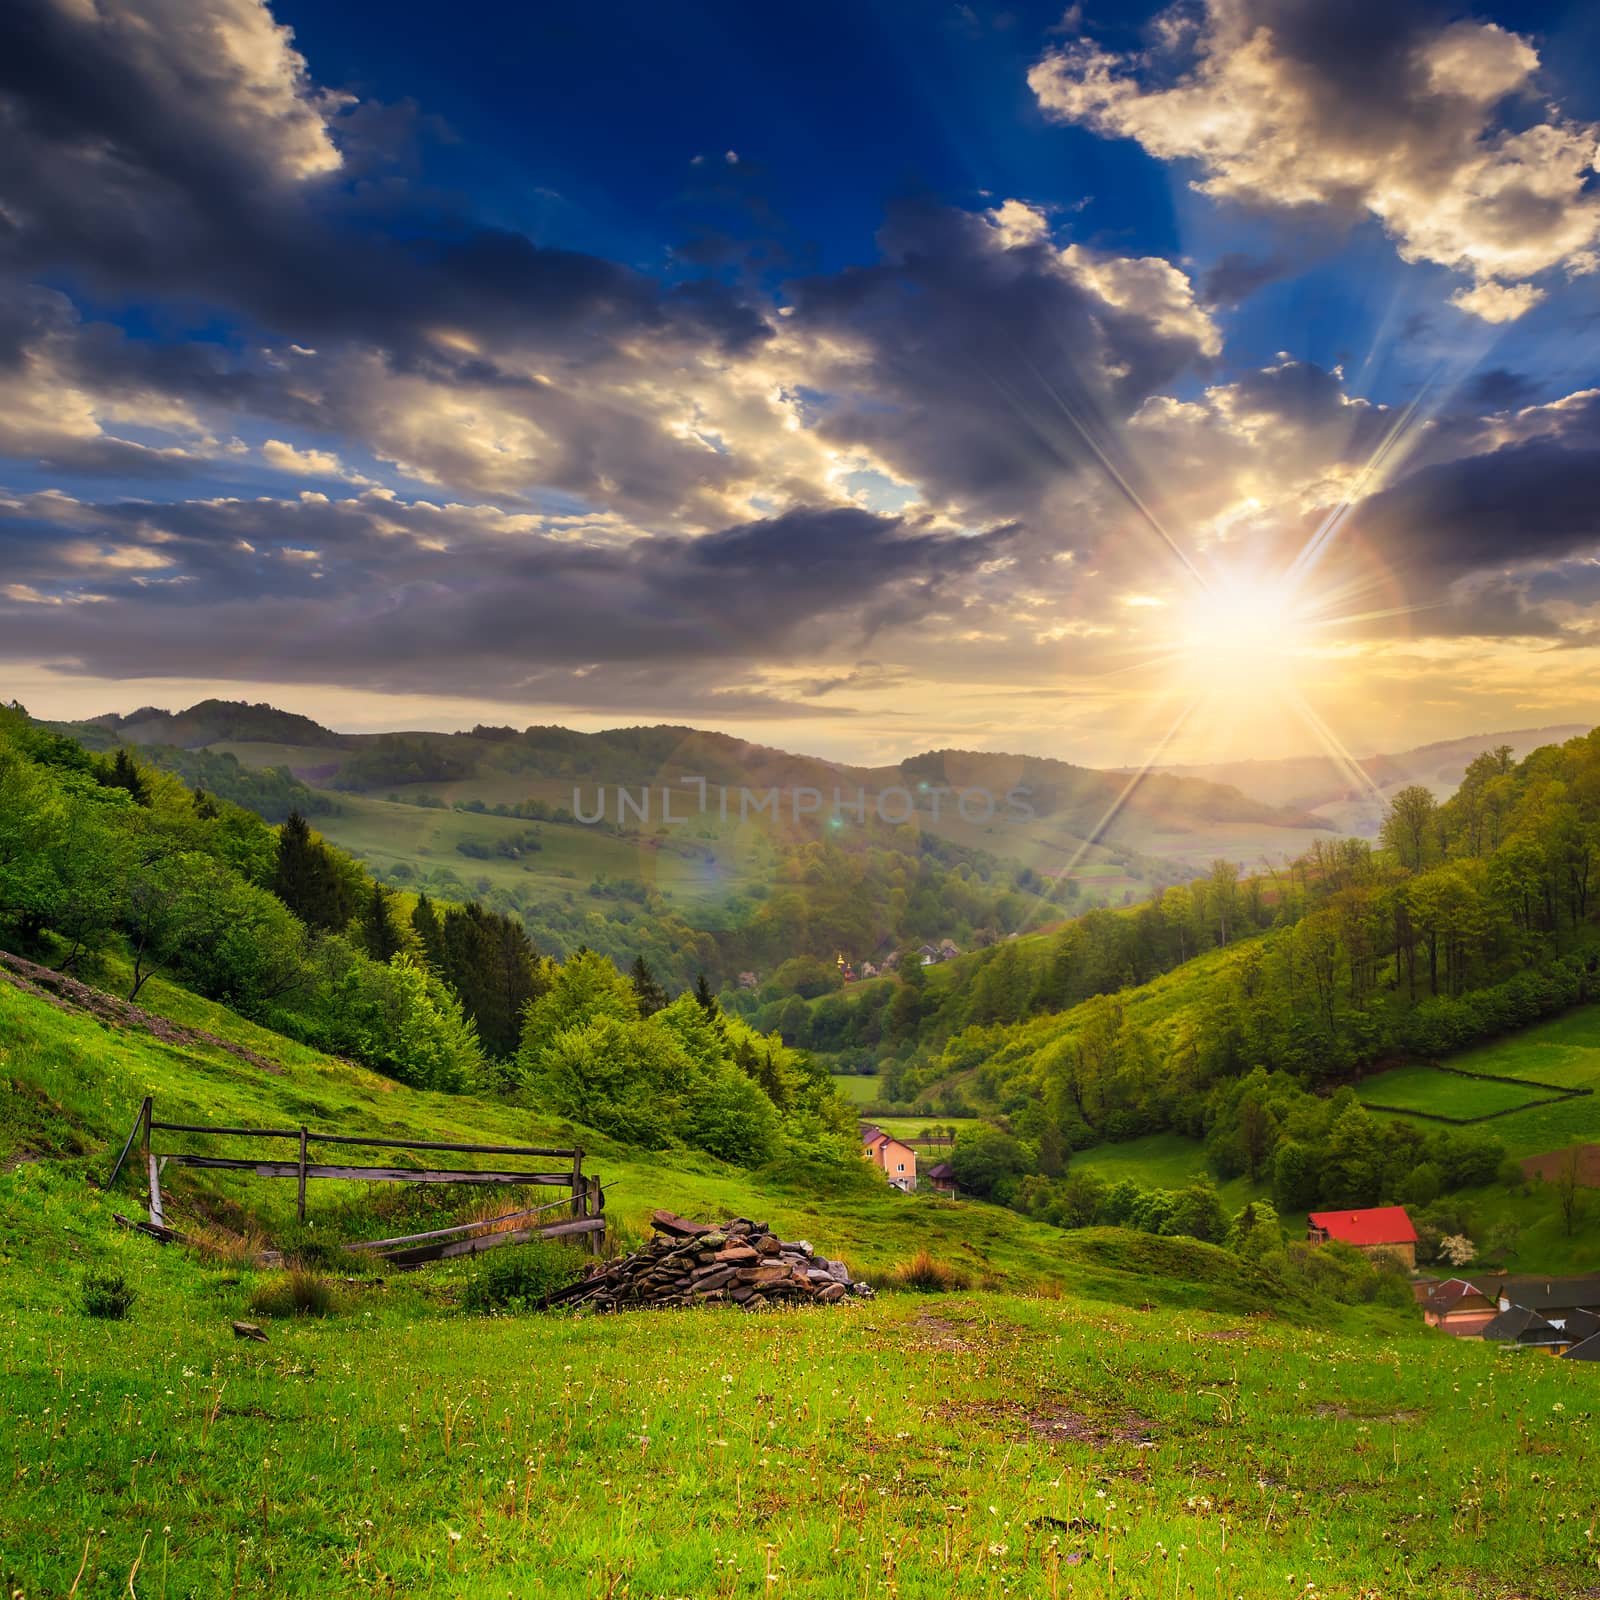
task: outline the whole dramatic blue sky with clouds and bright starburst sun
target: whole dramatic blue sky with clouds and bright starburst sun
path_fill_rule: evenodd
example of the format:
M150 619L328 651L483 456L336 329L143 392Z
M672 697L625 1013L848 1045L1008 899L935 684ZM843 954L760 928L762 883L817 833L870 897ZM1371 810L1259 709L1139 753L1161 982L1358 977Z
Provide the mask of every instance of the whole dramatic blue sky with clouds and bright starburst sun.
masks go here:
M1600 8L11 0L0 694L1600 722Z

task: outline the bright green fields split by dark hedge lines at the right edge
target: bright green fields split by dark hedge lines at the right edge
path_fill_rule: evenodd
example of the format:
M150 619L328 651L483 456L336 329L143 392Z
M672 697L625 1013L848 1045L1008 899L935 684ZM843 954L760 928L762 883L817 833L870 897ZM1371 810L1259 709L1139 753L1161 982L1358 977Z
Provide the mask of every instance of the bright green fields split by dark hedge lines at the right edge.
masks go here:
M1539 1022L1509 1038L1480 1045L1477 1050L1466 1050L1459 1056L1451 1056L1448 1064L1466 1072L1530 1078L1560 1088L1592 1088L1597 1091L1560 1101L1555 1106L1531 1106L1526 1110L1483 1123L1485 1131L1504 1139L1506 1149L1517 1158L1600 1139L1600 1005L1579 1006L1566 1016ZM1502 1090L1522 1096L1523 1102L1542 1098L1539 1090L1525 1091L1507 1085L1472 1083L1467 1078L1454 1078L1443 1072L1430 1074L1426 1069L1397 1069L1400 1074L1416 1074L1418 1070L1422 1070L1419 1085L1429 1094L1438 1096L1438 1099L1419 1101L1419 1109L1440 1110L1450 1117L1478 1115L1450 1107L1470 1104L1472 1096L1480 1091L1485 1104L1488 1104L1490 1091L1499 1093ZM1389 1085L1395 1077L1397 1074L1386 1072L1365 1078L1360 1085L1362 1099L1410 1104L1392 1099ZM1461 1085L1461 1088L1450 1085Z

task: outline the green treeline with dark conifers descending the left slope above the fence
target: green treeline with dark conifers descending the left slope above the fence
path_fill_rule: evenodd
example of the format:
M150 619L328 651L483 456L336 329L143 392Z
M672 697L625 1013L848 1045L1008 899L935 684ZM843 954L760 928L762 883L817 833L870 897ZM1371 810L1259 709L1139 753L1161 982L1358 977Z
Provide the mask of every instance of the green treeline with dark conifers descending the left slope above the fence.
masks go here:
M0 941L90 978L122 962L130 998L165 974L416 1086L752 1165L856 1157L827 1075L704 981L669 1002L643 960L560 965L493 907L408 906L298 811L274 829L19 707L0 710Z

